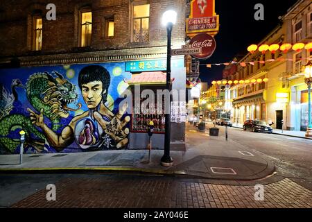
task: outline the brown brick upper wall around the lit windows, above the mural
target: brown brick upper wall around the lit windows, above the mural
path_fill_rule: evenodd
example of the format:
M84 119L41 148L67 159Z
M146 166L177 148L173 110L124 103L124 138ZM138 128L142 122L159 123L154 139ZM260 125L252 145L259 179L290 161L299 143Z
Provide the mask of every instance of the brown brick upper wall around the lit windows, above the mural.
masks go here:
M166 28L161 24L162 13L168 8L177 12L177 23L173 27L173 45L184 42L185 3L183 0L150 0L149 41L133 43L131 36L130 0L89 0L53 1L56 6L56 21L46 19L46 5L50 1L1 1L0 45L1 57L29 55L31 51L31 17L34 12L42 15L43 37L40 53L76 52L78 48L78 10L89 6L92 10L91 49L137 49L137 54L146 52L145 48L166 46ZM105 37L105 18L114 17L115 35ZM142 48L142 49L141 49ZM162 49L164 50L164 49ZM166 51L164 51L166 52ZM39 54L40 54L39 53ZM35 53L36 54L36 53Z

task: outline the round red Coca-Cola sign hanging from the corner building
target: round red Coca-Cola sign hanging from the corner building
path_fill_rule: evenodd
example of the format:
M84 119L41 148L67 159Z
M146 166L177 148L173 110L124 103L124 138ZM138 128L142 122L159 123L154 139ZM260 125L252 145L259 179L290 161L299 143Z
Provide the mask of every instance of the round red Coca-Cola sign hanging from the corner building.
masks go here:
M189 46L191 48L202 48L202 52L198 54L192 55L194 58L198 58L199 60L205 60L212 56L214 51L216 50L216 40L211 35L207 33L200 33L195 35L191 42L189 42Z

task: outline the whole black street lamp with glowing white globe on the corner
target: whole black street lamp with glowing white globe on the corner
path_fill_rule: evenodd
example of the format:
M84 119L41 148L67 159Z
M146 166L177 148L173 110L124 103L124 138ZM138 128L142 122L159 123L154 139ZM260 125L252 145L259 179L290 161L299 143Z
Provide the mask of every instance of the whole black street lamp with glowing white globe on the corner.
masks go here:
M167 28L167 74L166 74L166 89L171 92L171 33L175 22L177 21L177 12L167 10L162 15L162 24ZM170 125L171 125L171 96L169 99L169 110L166 110L165 120L165 138L164 138L164 155L160 160L162 166L170 167L173 164L173 159L170 156Z

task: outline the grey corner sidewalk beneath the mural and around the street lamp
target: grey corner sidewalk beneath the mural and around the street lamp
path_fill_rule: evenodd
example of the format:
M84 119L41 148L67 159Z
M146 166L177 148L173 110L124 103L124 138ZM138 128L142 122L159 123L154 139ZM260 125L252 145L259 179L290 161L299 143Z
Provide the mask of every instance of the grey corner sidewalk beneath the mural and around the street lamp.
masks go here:
M83 153L49 153L0 155L0 173L13 171L141 171L178 174L209 179L257 180L275 170L274 165L259 153L248 153L241 144L210 137L187 124L187 151L171 151L172 167L162 167L162 150L112 150ZM229 146L230 144L230 146Z

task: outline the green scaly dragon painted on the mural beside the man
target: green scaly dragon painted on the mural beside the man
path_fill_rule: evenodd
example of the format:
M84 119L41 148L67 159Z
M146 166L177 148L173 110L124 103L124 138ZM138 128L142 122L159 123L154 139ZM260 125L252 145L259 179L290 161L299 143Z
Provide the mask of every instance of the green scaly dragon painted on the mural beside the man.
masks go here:
M76 86L58 72L53 71L53 74L55 78L47 72L30 76L26 83L26 94L33 108L37 112L43 110L44 116L52 123L52 130L56 131L61 127L60 119L69 117L69 111L79 110L82 105L78 103L78 108L68 108L70 103L78 99ZM0 119L0 145L6 151L12 153L19 146L19 138L8 137L17 129L26 132L25 146L31 145L37 151L42 151L46 143L45 136L23 114L9 114Z

